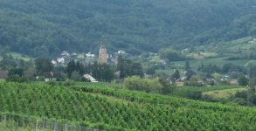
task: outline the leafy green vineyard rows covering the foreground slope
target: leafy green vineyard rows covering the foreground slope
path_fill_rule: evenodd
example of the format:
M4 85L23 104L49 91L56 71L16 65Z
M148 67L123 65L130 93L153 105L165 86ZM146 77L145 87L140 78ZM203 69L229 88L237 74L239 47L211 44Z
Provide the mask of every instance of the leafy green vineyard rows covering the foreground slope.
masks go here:
M0 86L0 109L3 112L73 121L88 128L256 130L256 110L246 107L99 86L40 86L7 82L0 82ZM110 97L129 103L111 101Z

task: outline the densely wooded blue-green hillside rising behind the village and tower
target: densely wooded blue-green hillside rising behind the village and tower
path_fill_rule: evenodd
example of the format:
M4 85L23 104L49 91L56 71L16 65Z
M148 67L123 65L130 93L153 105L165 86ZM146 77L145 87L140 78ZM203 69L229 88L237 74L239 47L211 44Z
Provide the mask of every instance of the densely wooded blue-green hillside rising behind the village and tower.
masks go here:
M181 50L253 36L254 0L1 0L0 45L31 57Z

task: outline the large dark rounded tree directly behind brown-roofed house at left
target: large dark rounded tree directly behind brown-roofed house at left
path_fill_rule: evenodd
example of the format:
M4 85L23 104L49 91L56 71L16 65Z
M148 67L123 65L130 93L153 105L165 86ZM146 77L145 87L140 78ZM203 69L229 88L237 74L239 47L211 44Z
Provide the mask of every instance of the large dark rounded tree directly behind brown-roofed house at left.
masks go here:
M52 72L54 66L52 65L52 61L50 59L35 59L35 65L37 69L38 75L43 75L44 72Z

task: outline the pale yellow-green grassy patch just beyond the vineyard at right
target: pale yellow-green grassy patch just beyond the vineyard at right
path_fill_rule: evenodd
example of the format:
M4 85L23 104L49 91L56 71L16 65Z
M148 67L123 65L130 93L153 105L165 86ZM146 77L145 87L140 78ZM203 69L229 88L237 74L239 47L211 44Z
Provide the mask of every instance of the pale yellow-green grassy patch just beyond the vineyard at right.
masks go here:
M235 89L226 89L226 90L216 90L211 92L206 92L203 94L212 95L214 98L227 98L230 94L235 94L238 91L244 91L246 88L235 88Z

